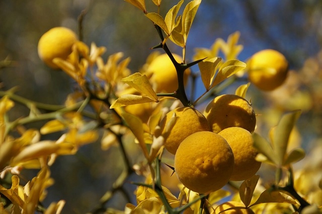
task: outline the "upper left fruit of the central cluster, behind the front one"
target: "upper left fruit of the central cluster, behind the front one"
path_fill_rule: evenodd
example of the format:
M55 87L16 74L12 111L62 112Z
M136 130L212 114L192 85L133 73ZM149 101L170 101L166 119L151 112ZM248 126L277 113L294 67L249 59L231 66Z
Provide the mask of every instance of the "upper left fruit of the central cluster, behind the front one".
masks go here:
M176 116L175 124L167 132L166 126L174 113ZM170 111L160 122L160 127L165 138L164 145L172 154L176 154L180 143L189 135L200 131L210 131L206 118L198 110L190 107L179 107Z

